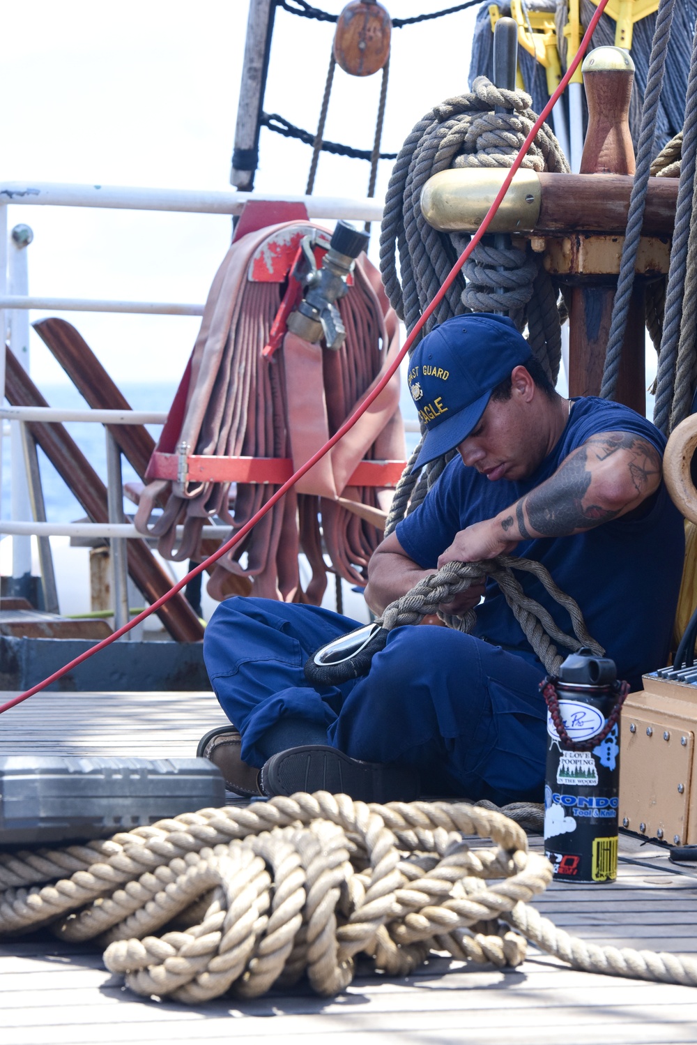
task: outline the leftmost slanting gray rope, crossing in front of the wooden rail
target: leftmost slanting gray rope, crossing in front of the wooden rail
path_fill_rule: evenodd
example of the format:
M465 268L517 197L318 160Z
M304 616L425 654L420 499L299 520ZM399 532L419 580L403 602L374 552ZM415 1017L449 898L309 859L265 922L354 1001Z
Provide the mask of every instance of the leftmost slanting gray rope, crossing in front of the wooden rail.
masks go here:
M636 171L631 187L627 229L622 247L622 260L620 262L620 276L612 305L612 319L607 348L605 350L605 366L603 368L603 379L600 388L600 395L603 399L615 398L620 374L622 345L627 329L629 304L634 285L634 264L644 222L646 192L649 184L651 158L656 133L658 101L660 100L660 90L664 82L675 2L676 0L660 0L656 16L656 29L651 47L646 95L642 111L642 130L639 136Z

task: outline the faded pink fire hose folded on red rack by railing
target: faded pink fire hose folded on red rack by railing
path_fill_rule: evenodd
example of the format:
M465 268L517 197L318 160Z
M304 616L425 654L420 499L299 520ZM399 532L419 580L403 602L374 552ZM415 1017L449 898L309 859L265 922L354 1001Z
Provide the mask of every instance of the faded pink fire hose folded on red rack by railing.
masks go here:
M342 231L344 238L363 236L347 226ZM332 242L336 238L335 233ZM326 230L319 226L291 222L247 233L230 248L211 286L191 362L170 411L173 417L177 400L186 396L181 429L177 435L169 431L170 425L165 427L148 474L157 474L162 451L171 452L175 446L185 454L210 457L291 459L296 468L337 431L394 358L399 350L396 316L365 255L353 269L353 284L323 315L313 307L312 294L319 297L322 278L335 283L340 279L328 273L326 265L314 273L306 271L301 279L309 280L311 289L287 318L287 332L284 323L274 342L274 323L278 326L283 316L288 294L284 294L284 286L292 275L288 263L275 258L285 250L285 256L292 259L295 241L303 243L304 239L305 255L311 260L313 250L323 252L330 246ZM314 246L308 247L308 242ZM356 243L343 249L358 253L361 247ZM336 293L336 286L332 291ZM325 333L333 336L333 348L305 340L313 335L313 324L321 335L320 319L329 325ZM343 342L336 336L337 324L345 329ZM301 589L297 555L304 552L312 580L303 601L319 604L327 586L322 537L332 568L354 584L365 583L361 571L382 535L344 505L354 502L386 511L391 491L351 487L347 481L364 459L404 459L399 394L396 373L331 455L312 468L242 543L219 559L209 581L214 598L225 597L223 585L231 573L253 578L256 596L296 598ZM207 518L217 515L238 530L278 489L272 483L237 483L231 514L230 487L230 483L188 475L176 481L155 479L141 497L136 526L142 533L160 538L158 550L166 558L196 557ZM164 513L149 525L154 503L163 494L168 494ZM185 529L182 542L175 547L177 524L184 524ZM247 559L244 565L240 562L243 553Z

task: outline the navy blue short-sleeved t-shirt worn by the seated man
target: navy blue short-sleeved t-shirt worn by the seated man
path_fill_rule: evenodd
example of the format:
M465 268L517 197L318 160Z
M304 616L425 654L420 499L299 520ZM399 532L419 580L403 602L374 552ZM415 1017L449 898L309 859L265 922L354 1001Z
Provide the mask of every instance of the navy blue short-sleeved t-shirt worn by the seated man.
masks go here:
M490 482L455 458L423 504L396 527L402 548L419 566L434 568L459 530L491 518L539 486L591 436L618 431L643 436L663 455L666 440L650 421L621 403L587 397L574 400L556 446L526 480ZM561 590L573 596L588 632L632 690L641 689L642 674L666 664L682 575L684 530L663 483L643 518L620 517L571 537L521 541L515 555L544 563ZM522 572L515 576L526 594L542 603L567 634L573 634L569 613L539 581ZM473 633L523 656L534 655L498 584L490 580L477 607Z

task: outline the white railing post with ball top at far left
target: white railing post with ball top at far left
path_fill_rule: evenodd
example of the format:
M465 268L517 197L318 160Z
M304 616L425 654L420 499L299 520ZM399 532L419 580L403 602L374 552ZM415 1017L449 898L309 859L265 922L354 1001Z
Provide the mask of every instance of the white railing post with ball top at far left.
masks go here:
M16 225L8 241L9 293L26 295L29 288L27 247L33 239L28 225ZM29 314L13 309L9 319L9 348L29 372ZM29 518L31 506L19 421L10 422L10 518ZM11 594L31 600L31 537L13 537Z

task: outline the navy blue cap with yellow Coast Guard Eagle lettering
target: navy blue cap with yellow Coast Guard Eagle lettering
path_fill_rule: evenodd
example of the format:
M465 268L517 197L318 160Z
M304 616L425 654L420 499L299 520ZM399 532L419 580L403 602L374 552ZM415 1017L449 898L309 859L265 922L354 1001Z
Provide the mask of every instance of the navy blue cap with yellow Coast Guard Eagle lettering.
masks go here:
M497 385L531 355L507 316L467 312L433 327L409 361L409 391L426 425L414 468L466 439Z

